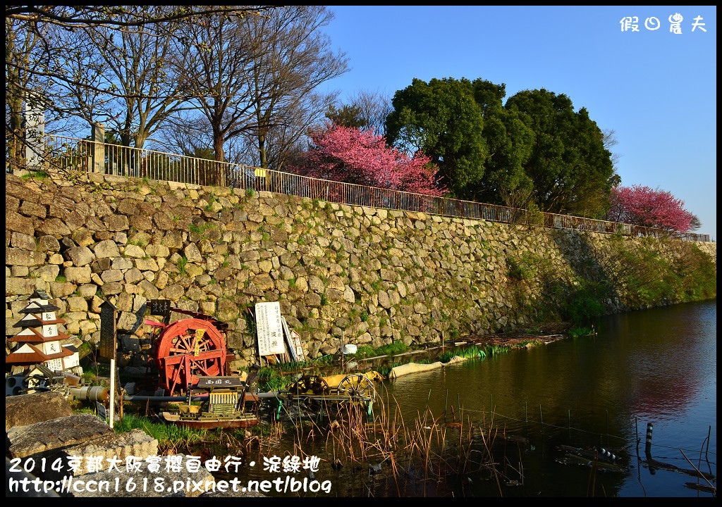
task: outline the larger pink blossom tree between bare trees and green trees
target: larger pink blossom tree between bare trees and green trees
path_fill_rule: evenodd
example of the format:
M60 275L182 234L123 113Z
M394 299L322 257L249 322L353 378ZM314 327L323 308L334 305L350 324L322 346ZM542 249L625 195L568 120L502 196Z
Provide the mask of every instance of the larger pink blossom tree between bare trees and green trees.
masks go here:
M310 133L312 146L290 164L290 172L370 187L404 190L440 197L437 167L420 152L413 158L386 146L386 138L370 131L327 123Z

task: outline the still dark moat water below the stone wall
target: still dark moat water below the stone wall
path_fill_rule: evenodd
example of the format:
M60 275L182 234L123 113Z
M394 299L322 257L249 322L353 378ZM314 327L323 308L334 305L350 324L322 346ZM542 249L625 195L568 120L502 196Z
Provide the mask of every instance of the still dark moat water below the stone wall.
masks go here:
M432 413L448 422L463 418L479 427L491 426L497 436L508 436L503 454L495 452L498 481L490 478L488 467L470 466L461 480L423 487L417 480L417 488L401 494L712 497L685 485L706 485L704 480L648 467L645 441L651 423L653 459L679 469L691 470L694 464L716 477L716 304L715 299L603 317L594 336L386 382L378 389L383 405L394 411L397 404L407 426L413 426L410 421L419 414ZM565 450L560 446L614 451L622 471L562 463ZM370 477L367 467L331 470L328 463L334 457L324 455L328 449L321 444L313 452L326 460L316 478L333 483L330 495L399 494L388 481L382 485L376 478L383 474ZM260 469L245 472L271 478L258 473ZM716 488L716 480L712 485Z

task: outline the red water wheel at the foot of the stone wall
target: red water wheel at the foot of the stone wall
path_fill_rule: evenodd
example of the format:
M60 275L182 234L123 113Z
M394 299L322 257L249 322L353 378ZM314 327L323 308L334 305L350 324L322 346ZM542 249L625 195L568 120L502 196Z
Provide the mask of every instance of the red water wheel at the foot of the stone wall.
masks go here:
M225 337L211 322L181 319L157 338L156 362L160 387L176 396L199 376L225 375Z

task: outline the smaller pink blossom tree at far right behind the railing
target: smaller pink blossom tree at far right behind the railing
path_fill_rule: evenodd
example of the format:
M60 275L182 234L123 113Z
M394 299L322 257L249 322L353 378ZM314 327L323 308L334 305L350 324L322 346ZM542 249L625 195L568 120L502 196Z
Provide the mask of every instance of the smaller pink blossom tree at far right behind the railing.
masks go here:
M684 201L667 190L642 185L617 186L612 188L609 200L612 206L607 220L611 221L684 233L692 229L696 219L684 209Z

